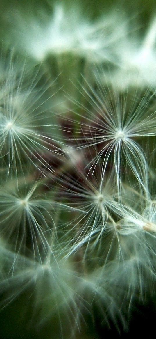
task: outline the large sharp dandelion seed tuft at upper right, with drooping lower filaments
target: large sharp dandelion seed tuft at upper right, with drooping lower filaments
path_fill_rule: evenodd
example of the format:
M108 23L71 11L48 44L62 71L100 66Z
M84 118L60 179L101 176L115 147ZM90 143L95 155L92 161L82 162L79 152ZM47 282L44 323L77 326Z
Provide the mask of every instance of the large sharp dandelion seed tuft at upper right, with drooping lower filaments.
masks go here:
M93 171L99 159L103 161L103 174L107 170L108 161L113 163L119 195L125 163L140 187L146 191L147 159L137 140L156 135L156 113L150 111L153 94L147 91L141 97L141 93L139 95L136 91L133 97L129 96L128 92L120 95L114 90L113 85L112 88L105 89L97 78L96 85L96 90L87 82L88 89L82 87L81 94L88 105L84 106L81 102L73 100L79 107L79 112L80 109L84 112L82 114L74 111L79 119L77 124L82 129L82 132L73 131L73 134L79 133L79 137L75 138L82 143L78 148L89 146L97 148L97 154L88 164Z

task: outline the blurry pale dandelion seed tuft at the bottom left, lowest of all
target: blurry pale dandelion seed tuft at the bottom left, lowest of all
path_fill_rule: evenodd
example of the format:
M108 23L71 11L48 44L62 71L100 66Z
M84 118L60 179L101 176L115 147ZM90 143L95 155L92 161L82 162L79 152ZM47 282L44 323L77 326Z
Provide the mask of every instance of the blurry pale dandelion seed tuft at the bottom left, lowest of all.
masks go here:
M49 319L59 319L60 338L64 338L65 323L68 324L68 335L80 328L81 314L87 309L87 302L83 298L80 283L82 278L74 269L72 260L64 259L63 244L54 244L51 250L35 258L14 254L8 255L10 265L14 268L10 274L0 282L1 291L6 299L1 303L6 307L23 291L28 290L34 314L38 315L38 326ZM42 261L41 261L42 258ZM31 300L33 295L33 300Z

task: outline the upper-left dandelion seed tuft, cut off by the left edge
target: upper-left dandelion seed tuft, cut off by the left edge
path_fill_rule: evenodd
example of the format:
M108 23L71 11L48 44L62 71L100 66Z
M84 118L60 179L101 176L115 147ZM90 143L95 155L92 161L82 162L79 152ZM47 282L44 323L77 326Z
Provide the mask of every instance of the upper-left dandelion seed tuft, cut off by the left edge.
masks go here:
M54 119L48 108L53 95L48 96L48 84L39 87L39 69L35 73L32 70L30 77L24 65L21 74L18 74L16 66L11 60L5 79L0 84L1 156L8 159L8 175L18 175L26 159L36 168L38 162L40 168L47 167L52 171L45 154L48 159L48 154L58 153L61 145L51 137L55 134L55 128L59 128L49 123Z

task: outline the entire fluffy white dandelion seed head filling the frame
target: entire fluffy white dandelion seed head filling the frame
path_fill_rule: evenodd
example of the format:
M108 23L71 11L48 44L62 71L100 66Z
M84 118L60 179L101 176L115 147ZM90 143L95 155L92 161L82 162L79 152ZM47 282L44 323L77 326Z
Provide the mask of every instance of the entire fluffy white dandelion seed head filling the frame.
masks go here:
M79 7L70 9L60 2L53 4L53 11L43 13L41 20L33 15L26 17L26 21L24 17L21 20L19 13L17 20L13 20L18 26L14 34L17 47L23 46L23 52L45 62L45 66L52 60L55 64L57 59L59 69L68 64L69 56L70 66L77 60L82 68L82 61L83 64L87 61L86 80L83 78L82 90L76 88L79 95L74 91L73 103L78 109L65 109L74 124L64 124L64 132L68 129L66 139L55 146L58 139L53 139L51 131L54 126L51 117L55 114L51 112L53 95L51 84L44 82L46 75L40 76L34 69L29 79L25 64L22 72L17 72L14 58L10 68L6 68L0 83L0 157L3 163L8 163L7 182L1 179L0 186L0 276L1 262L5 267L6 260L4 277L7 267L9 273L4 279L10 280L10 287L15 284L8 303L27 286L32 287L41 321L51 315L57 317L63 338L61 323L67 317L70 338L74 338L74 328L79 329L85 308L94 303L98 308L104 305L104 316L107 318L110 313L116 321L116 308L122 310L124 299L133 299L138 291L142 295L147 281L156 278L156 198L150 198L148 192L148 156L143 141L140 142L140 138L156 136L156 111L150 106L155 92L151 95L147 89L143 96L142 91L138 96L136 89L132 96L128 89L121 92L121 85L116 90L113 81L112 86L102 86L96 74L90 85L88 74L89 63L102 61L106 66L108 62L114 66L122 64L120 71L127 83L134 85L127 74L131 71L136 79L140 65L141 78L148 78L150 60L155 67L156 20L140 47L135 49L132 42L130 45L127 42L130 48L122 50L120 40L126 32L118 14L99 20L85 19ZM68 74L67 67L64 68ZM48 69L52 71L51 66ZM77 69L76 66L76 74ZM66 75L62 78L66 84ZM117 81L120 82L119 76ZM60 109L65 113L62 102ZM67 141L71 133L71 140L82 143L77 141L71 147L74 143ZM54 172L51 152L60 154L60 151L66 159L60 167L61 157L56 161ZM44 174L45 169L46 176L41 181L32 168L23 177L25 166L31 165L36 167L37 174L40 168ZM48 170L54 173L49 175ZM14 176L19 177L17 185ZM127 182L134 182L129 194ZM138 199L134 198L134 187ZM6 259L2 259L7 251L3 237L8 247L14 248L13 253L8 251Z

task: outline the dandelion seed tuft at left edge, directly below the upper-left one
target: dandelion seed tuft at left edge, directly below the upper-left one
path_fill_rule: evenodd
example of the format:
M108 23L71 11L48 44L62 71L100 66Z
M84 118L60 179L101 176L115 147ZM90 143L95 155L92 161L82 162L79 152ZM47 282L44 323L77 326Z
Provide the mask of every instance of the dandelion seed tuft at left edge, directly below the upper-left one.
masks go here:
M35 253L46 251L55 233L54 207L44 193L39 193L40 182L0 187L0 234L16 251L29 246ZM10 186L10 187L9 187Z

